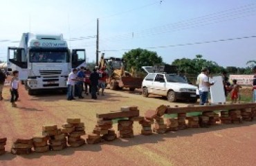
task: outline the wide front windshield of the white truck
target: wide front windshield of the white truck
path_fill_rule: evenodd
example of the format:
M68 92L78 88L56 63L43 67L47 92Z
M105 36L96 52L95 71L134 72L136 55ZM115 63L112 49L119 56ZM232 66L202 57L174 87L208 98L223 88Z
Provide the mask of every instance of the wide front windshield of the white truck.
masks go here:
M30 62L68 62L67 50L32 50Z

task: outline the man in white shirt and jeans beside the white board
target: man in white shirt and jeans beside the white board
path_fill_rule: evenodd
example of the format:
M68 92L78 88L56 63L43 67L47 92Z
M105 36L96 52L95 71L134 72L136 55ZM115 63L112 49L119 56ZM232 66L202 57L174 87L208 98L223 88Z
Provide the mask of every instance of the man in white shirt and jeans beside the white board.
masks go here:
M200 105L204 105L207 102L209 87L214 84L209 82L209 78L207 76L208 73L208 68L203 68L201 70L201 74L197 76L197 84L199 84Z

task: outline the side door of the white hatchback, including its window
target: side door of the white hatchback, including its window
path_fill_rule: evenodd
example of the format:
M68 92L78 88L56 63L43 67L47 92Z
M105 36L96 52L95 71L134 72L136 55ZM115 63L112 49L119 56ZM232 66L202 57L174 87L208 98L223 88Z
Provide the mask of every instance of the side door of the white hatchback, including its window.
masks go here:
M163 74L157 74L153 82L153 91L157 95L166 95L166 81Z

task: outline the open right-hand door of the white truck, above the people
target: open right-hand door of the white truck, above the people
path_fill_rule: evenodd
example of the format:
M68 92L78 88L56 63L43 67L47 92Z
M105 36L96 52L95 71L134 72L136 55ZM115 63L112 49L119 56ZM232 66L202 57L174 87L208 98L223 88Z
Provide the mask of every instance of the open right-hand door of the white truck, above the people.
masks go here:
M85 49L73 49L71 51L72 68L86 67L86 52Z

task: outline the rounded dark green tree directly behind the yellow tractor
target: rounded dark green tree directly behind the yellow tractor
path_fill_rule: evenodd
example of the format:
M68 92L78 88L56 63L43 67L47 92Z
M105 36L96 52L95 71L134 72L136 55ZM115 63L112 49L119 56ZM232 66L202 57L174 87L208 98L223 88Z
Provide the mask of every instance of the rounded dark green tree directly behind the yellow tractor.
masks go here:
M156 52L136 48L129 50L129 52L122 55L125 60L125 69L131 71L134 68L136 71L142 71L142 66L153 66L154 64L162 64L162 57L158 56Z

